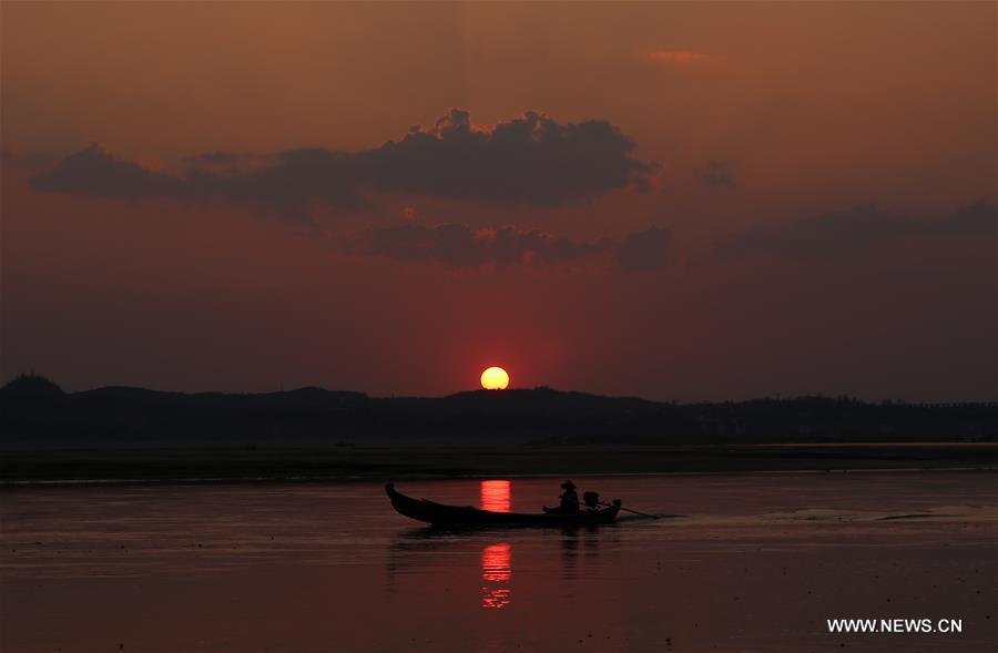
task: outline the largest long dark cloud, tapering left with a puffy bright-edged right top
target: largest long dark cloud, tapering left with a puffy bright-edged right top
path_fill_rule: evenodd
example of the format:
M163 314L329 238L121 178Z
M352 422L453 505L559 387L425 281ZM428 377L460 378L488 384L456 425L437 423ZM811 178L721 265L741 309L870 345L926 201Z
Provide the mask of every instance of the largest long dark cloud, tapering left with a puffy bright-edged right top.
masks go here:
M500 205L584 203L620 188L645 190L655 165L603 120L559 123L529 111L491 127L450 110L431 127L355 153L323 147L253 156L211 152L176 175L119 160L98 146L33 180L41 191L104 196L220 196L299 210L313 201L363 204L368 192L401 192Z

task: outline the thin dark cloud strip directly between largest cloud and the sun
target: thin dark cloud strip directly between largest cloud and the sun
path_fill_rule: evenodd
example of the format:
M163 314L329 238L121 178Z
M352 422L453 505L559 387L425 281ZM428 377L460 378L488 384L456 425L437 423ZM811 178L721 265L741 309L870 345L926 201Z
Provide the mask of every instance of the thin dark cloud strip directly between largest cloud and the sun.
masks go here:
M343 238L340 245L354 255L435 262L458 268L557 267L604 254L612 247L607 238L579 243L511 226L476 231L464 224L428 227L414 223L357 232Z

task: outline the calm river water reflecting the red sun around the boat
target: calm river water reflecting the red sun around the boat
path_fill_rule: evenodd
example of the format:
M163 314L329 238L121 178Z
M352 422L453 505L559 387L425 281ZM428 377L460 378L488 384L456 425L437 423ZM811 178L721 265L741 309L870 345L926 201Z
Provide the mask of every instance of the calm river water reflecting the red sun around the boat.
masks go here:
M582 479L686 517L473 533L421 528L373 483L8 490L0 650L991 651L996 481ZM525 511L559 492L399 489ZM832 618L953 618L963 633L829 634Z

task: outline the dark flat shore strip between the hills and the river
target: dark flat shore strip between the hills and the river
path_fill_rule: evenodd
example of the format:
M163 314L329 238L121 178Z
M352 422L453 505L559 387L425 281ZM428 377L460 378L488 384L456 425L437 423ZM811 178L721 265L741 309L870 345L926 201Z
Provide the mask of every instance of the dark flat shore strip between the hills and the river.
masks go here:
M7 450L0 488L917 471L998 471L998 443Z

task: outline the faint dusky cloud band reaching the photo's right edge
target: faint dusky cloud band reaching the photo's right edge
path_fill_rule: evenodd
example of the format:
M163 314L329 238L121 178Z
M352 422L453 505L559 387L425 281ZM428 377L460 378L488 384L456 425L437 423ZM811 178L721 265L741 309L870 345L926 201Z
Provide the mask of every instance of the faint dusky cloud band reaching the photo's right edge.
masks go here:
M715 252L723 258L781 255L851 259L902 238L958 236L998 237L996 207L978 202L944 217L914 217L863 205L735 234L717 242Z

